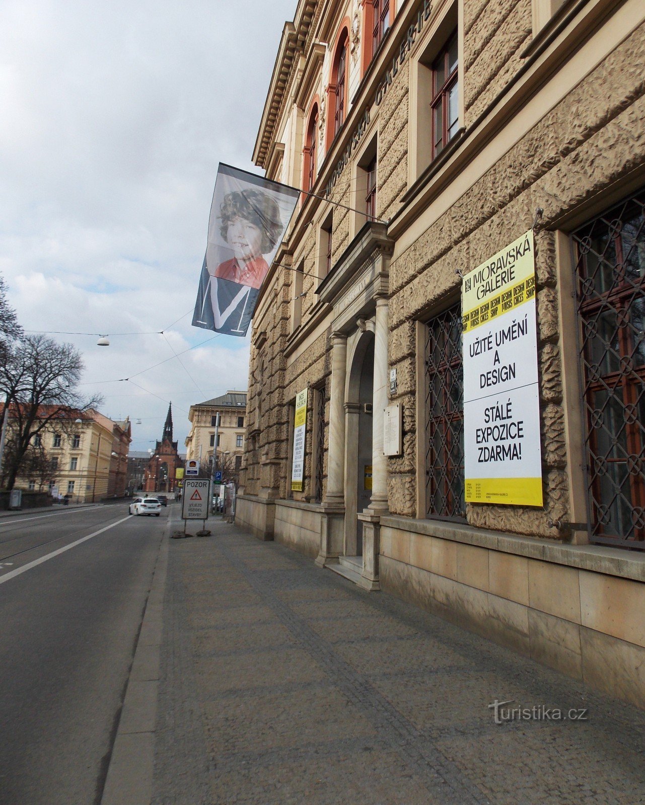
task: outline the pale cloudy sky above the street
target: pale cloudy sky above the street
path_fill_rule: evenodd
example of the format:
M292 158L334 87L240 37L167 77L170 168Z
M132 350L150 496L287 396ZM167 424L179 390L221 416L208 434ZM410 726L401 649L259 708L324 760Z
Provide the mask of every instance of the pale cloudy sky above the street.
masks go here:
M112 336L108 348L52 336L81 349L103 413L141 419L131 450L161 436L167 401L184 449L191 403L246 389L248 338L192 328L184 314L217 163L259 172L251 154L295 10L296 0L0 3L0 273L27 330L165 330Z

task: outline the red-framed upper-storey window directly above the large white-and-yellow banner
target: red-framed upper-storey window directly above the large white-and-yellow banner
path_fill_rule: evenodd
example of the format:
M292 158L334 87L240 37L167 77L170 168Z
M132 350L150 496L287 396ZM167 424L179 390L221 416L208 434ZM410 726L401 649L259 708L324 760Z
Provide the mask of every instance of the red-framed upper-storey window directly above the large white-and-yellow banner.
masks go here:
M432 159L440 155L459 128L457 32L432 62Z

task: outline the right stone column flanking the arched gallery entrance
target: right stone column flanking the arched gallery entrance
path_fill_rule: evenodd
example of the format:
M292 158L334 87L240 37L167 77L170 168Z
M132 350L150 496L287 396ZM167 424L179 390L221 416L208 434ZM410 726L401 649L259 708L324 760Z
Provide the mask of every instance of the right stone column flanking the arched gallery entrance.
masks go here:
M374 398L372 407L372 496L369 509L387 511L387 458L383 455L383 409L387 406L387 297L376 299L374 326Z

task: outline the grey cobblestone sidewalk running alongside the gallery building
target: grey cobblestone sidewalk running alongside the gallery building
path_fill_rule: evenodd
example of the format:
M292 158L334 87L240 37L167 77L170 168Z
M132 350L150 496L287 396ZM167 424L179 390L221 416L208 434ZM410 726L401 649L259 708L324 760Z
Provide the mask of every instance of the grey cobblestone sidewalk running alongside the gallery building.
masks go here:
M645 803L645 713L234 526L172 540L164 617L155 805Z

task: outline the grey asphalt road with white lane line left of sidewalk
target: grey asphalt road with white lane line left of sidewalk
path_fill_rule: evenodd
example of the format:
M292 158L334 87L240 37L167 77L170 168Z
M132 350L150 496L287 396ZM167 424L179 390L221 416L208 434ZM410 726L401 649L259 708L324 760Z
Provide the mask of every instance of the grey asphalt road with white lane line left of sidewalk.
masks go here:
M100 802L169 510L0 518L0 805Z

